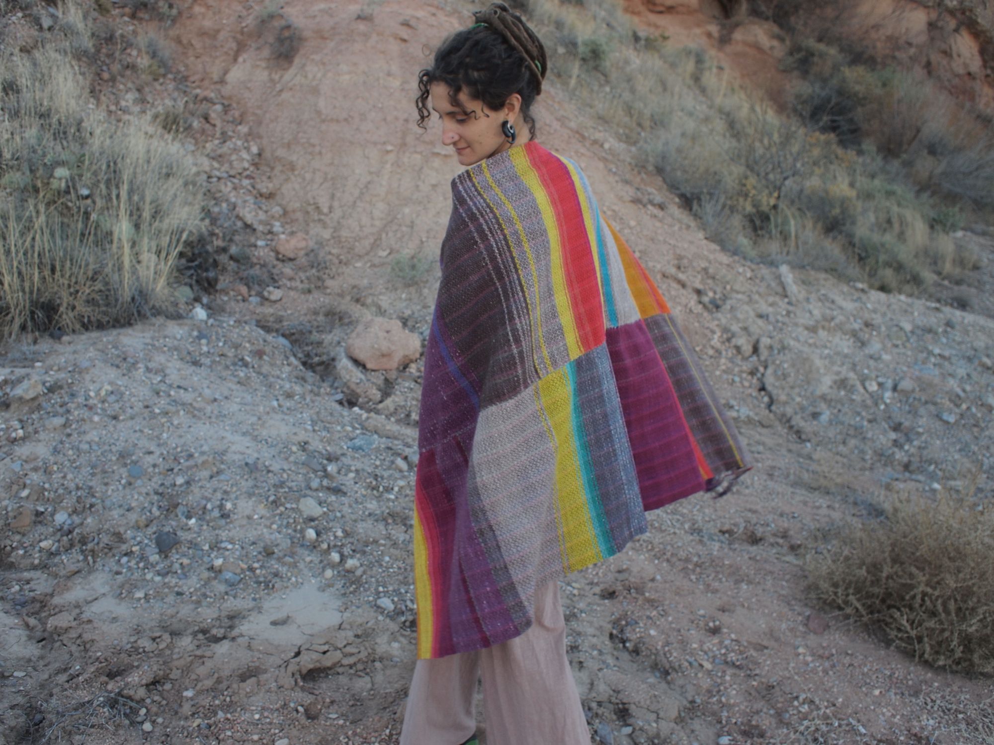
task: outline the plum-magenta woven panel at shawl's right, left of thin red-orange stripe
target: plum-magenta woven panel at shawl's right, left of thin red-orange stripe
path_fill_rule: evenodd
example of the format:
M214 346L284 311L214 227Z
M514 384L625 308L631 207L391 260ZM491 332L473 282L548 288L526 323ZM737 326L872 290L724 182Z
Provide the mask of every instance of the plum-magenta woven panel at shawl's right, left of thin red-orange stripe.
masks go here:
M673 386L645 324L607 330L625 428L646 512L704 490Z

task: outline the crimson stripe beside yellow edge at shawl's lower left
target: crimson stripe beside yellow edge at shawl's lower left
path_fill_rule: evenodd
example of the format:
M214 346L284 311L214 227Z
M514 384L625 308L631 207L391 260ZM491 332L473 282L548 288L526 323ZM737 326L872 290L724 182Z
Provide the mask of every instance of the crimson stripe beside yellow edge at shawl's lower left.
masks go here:
M449 622L449 573L443 567L451 566L452 536L438 530L438 523L451 524L452 518L444 513L454 512L452 497L445 487L434 451L421 453L414 478L414 503L424 532L425 553L428 557L428 577L431 582L431 657L441 657L452 652L452 633Z

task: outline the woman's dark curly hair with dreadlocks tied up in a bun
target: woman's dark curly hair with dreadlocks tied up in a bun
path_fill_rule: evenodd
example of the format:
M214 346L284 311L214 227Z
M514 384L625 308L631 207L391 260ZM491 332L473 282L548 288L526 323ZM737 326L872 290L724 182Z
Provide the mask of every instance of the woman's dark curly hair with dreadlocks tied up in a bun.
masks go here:
M441 82L448 87L449 101L459 108L458 95L463 90L490 109L500 108L512 93L518 93L522 115L534 138L531 107L549 72L546 48L525 20L504 3L491 3L485 10L475 11L473 17L476 24L445 39L431 67L417 75L417 126L427 128L424 122L431 116L430 87Z

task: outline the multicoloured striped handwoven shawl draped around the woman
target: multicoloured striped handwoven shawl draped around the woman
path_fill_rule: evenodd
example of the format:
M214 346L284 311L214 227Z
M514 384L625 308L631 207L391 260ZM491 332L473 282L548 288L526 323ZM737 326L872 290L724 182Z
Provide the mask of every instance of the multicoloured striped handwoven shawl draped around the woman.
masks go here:
M456 176L440 265L414 495L421 659L522 634L536 587L751 467L573 161L530 141Z

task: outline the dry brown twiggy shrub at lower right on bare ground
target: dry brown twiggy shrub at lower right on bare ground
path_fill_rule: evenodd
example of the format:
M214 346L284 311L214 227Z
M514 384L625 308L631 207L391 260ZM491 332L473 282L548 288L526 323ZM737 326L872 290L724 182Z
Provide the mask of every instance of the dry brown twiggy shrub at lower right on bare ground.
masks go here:
M986 509L985 509L986 508ZM807 561L825 604L882 630L916 660L994 672L994 510L969 494L885 502Z

